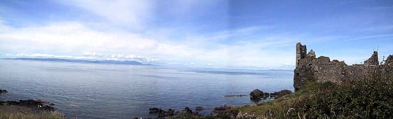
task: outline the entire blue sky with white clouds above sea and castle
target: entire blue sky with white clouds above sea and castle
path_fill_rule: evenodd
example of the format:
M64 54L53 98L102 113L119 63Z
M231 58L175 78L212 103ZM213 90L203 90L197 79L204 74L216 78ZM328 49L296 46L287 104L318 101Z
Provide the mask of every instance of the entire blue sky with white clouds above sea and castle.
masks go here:
M294 69L393 54L392 0L0 0L0 58Z

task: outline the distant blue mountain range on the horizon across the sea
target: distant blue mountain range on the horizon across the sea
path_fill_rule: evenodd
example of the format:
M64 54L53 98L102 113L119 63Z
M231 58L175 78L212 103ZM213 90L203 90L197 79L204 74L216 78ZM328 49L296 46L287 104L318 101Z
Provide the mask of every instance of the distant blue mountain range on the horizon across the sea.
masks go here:
M8 59L8 58L7 58ZM83 60L83 59L56 59L56 58L16 58L16 60L36 60L36 61L63 61L63 62L82 62L82 63L109 63L109 64L129 64L129 65L153 65L153 64L143 64L138 61L116 61L116 60Z

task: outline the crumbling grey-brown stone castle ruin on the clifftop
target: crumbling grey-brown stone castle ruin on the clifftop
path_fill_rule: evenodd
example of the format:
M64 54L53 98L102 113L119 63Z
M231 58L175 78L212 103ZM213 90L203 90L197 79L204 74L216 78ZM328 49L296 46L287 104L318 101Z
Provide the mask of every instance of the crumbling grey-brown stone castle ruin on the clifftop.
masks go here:
M294 70L293 87L295 91L302 89L306 81L340 84L349 80L366 80L374 75L387 79L393 77L393 56L390 55L380 64L378 52L363 64L347 65L344 61L330 60L329 57L315 57L315 52L307 53L306 45L296 44L296 68Z

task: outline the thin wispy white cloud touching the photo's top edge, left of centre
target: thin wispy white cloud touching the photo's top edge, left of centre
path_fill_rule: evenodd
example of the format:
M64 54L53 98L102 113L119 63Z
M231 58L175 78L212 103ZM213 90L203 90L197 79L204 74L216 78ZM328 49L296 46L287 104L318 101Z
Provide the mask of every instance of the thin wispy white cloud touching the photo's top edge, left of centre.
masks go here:
M113 25L142 29L153 16L151 0L60 0L63 4L79 7L103 17Z

